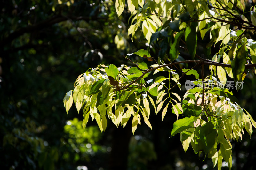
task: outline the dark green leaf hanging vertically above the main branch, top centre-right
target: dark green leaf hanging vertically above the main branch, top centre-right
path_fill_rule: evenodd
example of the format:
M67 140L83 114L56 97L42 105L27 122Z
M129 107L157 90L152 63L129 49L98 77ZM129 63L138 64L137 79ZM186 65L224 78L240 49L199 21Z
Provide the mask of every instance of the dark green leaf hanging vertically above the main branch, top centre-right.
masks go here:
M186 40L189 54L191 55L192 59L194 59L196 54L197 35L196 35L196 29L194 28L193 25L191 27L188 26L186 28L185 40Z

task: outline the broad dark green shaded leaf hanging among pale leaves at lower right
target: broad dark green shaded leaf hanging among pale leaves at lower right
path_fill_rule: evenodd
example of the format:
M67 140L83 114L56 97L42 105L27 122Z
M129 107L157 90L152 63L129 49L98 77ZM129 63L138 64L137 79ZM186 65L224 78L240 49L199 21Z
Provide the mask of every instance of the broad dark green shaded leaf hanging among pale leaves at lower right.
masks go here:
M205 153L208 153L214 146L216 136L217 132L216 129L214 129L212 122L205 123L199 132L199 137L204 144Z

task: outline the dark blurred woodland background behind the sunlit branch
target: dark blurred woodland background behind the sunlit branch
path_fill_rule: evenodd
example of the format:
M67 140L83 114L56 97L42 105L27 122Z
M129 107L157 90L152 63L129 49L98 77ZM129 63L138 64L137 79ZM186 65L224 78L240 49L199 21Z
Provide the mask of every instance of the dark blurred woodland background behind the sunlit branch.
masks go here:
M248 3L244 1L245 7ZM78 75L98 64L132 66L123 55L148 48L140 32L133 42L127 38L128 11L117 18L113 0L0 0L0 4L1 169L213 169L212 160L203 154L198 157L192 148L185 153L179 135L170 138L176 121L171 108L163 122L161 115L150 116L153 130L142 121L134 135L131 120L124 128L108 120L105 133L89 120L84 132L82 112L73 106L67 115L63 97L74 88ZM199 55L207 41L198 36ZM159 49L151 48L151 56L157 59ZM189 58L182 51L181 56ZM256 120L256 82L252 73L246 77L243 89L234 95ZM252 138L245 134L242 142L232 143L232 169L253 169L255 134L254 129Z

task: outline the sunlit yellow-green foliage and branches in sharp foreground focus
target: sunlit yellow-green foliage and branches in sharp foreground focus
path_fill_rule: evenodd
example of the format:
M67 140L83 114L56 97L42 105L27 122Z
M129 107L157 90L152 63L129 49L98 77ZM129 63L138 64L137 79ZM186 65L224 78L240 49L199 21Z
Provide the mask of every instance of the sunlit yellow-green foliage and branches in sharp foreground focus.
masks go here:
M255 75L255 6L234 0L116 0L118 16L125 6L128 36L146 43L147 50L123 55L132 66L100 64L81 74L64 97L67 113L74 102L78 113L83 111L83 128L91 117L101 131L107 118L116 126L132 119L133 134L141 117L152 129L150 113L160 112L162 120L173 113L177 121L171 136L180 133L185 152L191 145L196 154L211 158L213 166L221 169L224 160L231 169L231 142L242 140L245 131L251 137L256 128L231 91L243 88L247 73ZM123 48L124 37L116 35L115 43ZM186 85L196 87L186 86L180 97L177 90L186 75L193 75Z

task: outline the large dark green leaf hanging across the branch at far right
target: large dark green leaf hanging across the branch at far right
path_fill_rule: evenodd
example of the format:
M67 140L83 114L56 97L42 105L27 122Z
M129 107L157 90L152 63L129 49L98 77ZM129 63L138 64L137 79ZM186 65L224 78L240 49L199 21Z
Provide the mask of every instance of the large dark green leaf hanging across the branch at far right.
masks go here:
M237 50L236 57L231 63L232 73L235 80L242 81L246 61L247 61L247 53L246 53L246 46L244 44Z

